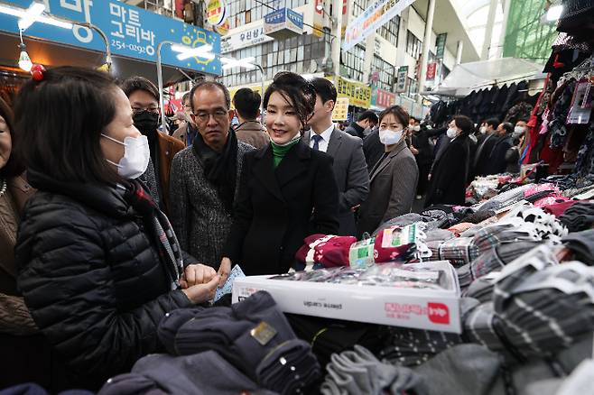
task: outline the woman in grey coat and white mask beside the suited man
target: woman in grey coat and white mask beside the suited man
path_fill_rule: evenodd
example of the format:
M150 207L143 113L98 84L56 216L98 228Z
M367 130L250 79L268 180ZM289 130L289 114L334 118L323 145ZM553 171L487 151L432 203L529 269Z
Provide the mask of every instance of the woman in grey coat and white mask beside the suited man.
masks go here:
M410 213L419 180L419 168L406 145L409 115L401 106L379 115L379 140L385 152L369 173L369 196L359 210L358 234L373 233L396 216Z

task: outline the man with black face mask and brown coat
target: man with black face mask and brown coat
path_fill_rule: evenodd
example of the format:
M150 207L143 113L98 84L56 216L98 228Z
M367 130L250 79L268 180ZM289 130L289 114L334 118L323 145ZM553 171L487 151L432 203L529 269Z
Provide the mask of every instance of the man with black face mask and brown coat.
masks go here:
M149 187L154 181L156 194L162 211L169 214L169 179L173 157L183 150L183 142L165 133L159 133L159 90L144 77L125 79L120 86L128 96L133 111L136 129L146 136L151 152L151 162L144 174ZM151 167L151 164L153 165ZM151 191L152 194L153 190Z

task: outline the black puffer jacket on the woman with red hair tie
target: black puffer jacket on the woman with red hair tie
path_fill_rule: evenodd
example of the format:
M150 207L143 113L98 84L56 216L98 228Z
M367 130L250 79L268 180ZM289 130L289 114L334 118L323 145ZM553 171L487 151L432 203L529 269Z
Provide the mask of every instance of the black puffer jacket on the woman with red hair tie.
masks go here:
M28 177L39 191L17 237L18 286L37 326L79 375L76 382L92 388L160 351L160 320L191 303L171 290L123 190L33 171Z

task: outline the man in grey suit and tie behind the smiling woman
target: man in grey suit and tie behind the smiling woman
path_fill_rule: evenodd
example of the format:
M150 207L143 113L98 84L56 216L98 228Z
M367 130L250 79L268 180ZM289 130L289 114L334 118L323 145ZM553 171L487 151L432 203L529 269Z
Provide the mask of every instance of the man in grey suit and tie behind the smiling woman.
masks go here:
M332 124L337 98L334 85L326 78L314 78L311 83L316 89L316 106L309 121L311 131L305 133L304 139L312 149L334 158L334 176L339 185L339 235L355 235L357 225L353 212L369 192L363 142Z

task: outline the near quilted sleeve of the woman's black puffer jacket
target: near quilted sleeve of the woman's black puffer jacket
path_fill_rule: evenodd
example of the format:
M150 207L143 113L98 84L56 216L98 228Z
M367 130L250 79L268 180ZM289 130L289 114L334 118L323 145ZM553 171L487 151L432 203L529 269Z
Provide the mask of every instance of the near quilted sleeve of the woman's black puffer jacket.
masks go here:
M161 318L189 307L186 296L170 291L135 309L118 309L109 266L117 262L107 262L101 218L76 205L37 203L25 212L15 256L18 285L42 333L74 371L103 380L158 351ZM143 252L125 254L143 259Z

